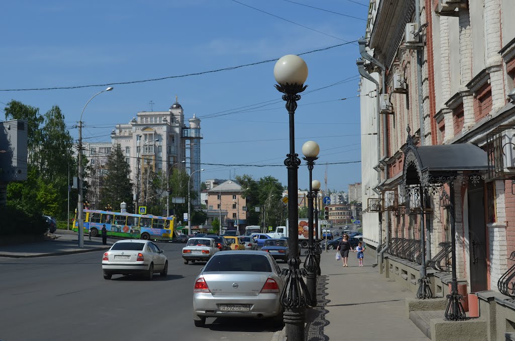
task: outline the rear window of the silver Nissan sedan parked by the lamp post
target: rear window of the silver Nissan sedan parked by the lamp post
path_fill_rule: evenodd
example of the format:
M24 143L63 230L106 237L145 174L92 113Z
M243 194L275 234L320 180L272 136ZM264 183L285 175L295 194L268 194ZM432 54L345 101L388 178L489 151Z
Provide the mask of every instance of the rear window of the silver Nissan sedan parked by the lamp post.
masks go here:
M268 258L260 254L215 254L204 272L252 271L272 272Z

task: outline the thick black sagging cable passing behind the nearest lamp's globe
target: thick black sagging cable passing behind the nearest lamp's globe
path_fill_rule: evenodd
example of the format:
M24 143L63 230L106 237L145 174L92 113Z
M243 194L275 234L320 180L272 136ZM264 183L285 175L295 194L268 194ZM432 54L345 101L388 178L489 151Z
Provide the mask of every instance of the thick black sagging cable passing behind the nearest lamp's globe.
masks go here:
M347 42L347 43L338 44L338 45L332 45L332 46L328 46L328 47L324 47L324 48L318 48L318 49L311 50L311 51L308 51L308 52L303 52L301 54L298 54L298 56L307 55L307 54L315 53L315 52L321 52L321 51L325 51L325 50L328 50L328 49L331 49L331 48L335 48L335 47L339 47L339 46L344 46L344 45L348 45L350 43L355 43L355 42L357 42L357 40L354 40L354 41L351 41L351 42ZM73 86L73 87L72 86L68 86L68 87L53 87L53 88L0 89L0 91L43 91L43 90L65 90L65 89L68 90L68 89L81 89L81 88L92 88L92 87L107 87L107 86L115 86L115 85L122 85L122 84L145 83L145 82L153 82L153 81L158 81L158 80L165 80L165 79L172 79L172 78L183 78L183 77L190 77L190 76L205 75L205 74L221 72L221 71L236 70L236 69L240 69L241 67L265 64L265 63L270 63L270 62L274 62L274 61L277 61L277 60L279 60L279 58L267 59L267 60L262 60L260 62L242 64L242 65L237 65L237 66L229 66L229 67L224 67L223 69L217 69L217 70L195 72L195 73L189 73L189 74L177 75L177 76L166 76L166 77L150 78L150 79L143 79L143 80L132 80L132 81L127 81L127 82L111 82L111 83L104 83L104 84L89 84L89 85Z

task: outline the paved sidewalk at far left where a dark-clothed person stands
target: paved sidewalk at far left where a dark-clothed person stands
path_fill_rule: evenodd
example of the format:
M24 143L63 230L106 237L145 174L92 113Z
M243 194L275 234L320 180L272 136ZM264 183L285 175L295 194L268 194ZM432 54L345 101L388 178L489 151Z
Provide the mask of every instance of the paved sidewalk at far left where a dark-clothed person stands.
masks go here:
M102 245L102 238L95 237L90 241L88 235L84 235L84 247L78 247L77 232L57 230L56 240L47 240L40 243L17 244L0 246L0 257L32 258L53 255L82 253L97 250L107 250L113 242L108 239L108 245Z

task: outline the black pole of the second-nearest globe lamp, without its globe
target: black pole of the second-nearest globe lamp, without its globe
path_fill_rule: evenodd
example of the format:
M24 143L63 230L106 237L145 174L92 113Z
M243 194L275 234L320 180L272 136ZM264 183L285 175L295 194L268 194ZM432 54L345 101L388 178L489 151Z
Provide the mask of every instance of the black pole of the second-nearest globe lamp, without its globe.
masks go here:
M306 285L307 289L310 293L310 301L311 305L316 306L317 304L317 260L315 258L315 248L313 245L313 167L315 165L315 160L318 158L308 158L305 157L307 169L310 173L310 189L307 192L307 227L308 227L308 237L307 237L307 255L304 261L304 269L306 269ZM327 233L326 233L327 234Z

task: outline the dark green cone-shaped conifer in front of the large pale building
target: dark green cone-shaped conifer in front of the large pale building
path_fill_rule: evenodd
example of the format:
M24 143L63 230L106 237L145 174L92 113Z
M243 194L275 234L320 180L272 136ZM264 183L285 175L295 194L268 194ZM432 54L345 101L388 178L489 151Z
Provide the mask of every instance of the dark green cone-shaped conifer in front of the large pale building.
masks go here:
M110 204L113 209L119 207L122 201L132 202L132 183L130 181L130 166L120 145L116 145L106 162L104 185L100 189L101 207ZM130 211L131 205L127 205Z

